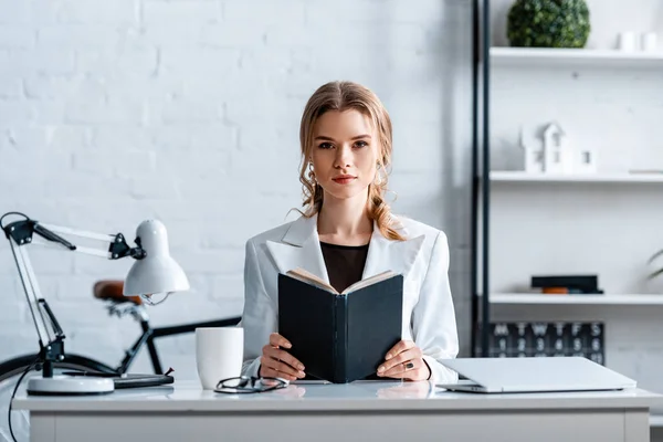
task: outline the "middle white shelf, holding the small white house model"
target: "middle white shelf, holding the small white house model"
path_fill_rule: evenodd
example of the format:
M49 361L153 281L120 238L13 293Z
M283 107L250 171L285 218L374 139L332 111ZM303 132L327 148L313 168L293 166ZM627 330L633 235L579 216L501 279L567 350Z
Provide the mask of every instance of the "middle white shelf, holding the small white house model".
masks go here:
M596 173L596 175L548 175L522 171L492 171L496 182L663 182L663 173Z

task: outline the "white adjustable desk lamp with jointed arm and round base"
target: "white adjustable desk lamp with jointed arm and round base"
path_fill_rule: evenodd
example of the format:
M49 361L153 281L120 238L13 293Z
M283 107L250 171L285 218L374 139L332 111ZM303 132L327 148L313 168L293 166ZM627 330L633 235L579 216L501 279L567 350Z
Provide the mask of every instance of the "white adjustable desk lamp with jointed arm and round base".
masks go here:
M2 221L8 215L23 219L7 225ZM0 229L4 231L21 277L25 298L36 334L39 336L39 361L43 365L41 377L28 382L29 394L98 394L114 390L113 379L96 377L53 376L53 362L64 359L64 333L42 297L27 249L29 245L54 246L71 252L86 253L108 260L130 256L136 260L129 270L125 284L125 296L140 296L146 304L156 305L166 301L175 292L189 290L189 281L182 269L170 257L168 234L160 221L143 221L136 229L136 246L127 244L122 233L102 234L75 229L43 224L23 213L9 212L0 218ZM86 238L106 243L106 249L74 245L62 235ZM155 295L164 296L155 302Z

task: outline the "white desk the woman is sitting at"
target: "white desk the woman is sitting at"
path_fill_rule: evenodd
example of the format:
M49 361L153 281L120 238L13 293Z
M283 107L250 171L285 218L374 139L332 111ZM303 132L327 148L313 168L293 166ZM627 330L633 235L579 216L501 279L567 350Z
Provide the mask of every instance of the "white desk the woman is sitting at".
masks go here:
M649 441L649 408L633 389L476 394L428 382L293 385L257 394L197 382L98 397L19 397L32 442L76 441Z

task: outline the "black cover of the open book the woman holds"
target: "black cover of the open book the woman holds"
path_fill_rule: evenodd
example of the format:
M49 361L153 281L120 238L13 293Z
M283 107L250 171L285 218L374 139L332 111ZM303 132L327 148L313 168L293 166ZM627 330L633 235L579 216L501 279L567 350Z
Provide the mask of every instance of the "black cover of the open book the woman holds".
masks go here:
M338 295L280 274L278 333L307 377L351 382L375 375L401 340L402 301L402 275Z

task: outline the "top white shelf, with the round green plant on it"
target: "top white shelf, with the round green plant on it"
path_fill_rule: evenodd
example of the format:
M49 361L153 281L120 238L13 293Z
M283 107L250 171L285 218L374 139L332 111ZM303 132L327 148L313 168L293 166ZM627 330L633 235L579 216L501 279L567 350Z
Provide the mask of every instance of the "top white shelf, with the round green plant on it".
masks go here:
M663 66L663 51L621 52L591 49L491 48L491 63L498 66Z

